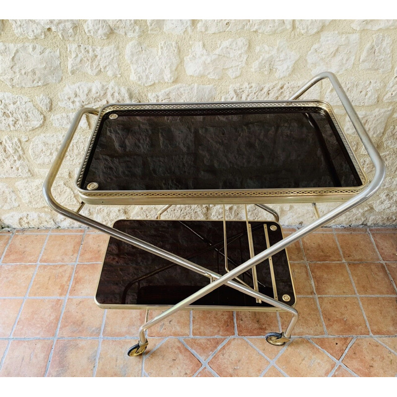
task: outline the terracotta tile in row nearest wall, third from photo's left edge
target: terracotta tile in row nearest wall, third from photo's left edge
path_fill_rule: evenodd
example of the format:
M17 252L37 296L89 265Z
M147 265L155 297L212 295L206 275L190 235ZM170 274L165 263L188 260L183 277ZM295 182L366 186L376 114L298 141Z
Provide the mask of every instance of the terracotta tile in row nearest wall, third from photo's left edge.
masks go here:
M41 263L73 263L76 262L82 236L78 234L50 235L44 247Z

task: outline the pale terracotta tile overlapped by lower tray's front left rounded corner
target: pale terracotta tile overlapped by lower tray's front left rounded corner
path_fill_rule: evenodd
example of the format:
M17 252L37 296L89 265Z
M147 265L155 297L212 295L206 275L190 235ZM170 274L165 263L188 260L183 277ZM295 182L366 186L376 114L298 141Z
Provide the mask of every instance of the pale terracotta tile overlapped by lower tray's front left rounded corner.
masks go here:
M99 336L104 312L93 299L68 299L59 336Z

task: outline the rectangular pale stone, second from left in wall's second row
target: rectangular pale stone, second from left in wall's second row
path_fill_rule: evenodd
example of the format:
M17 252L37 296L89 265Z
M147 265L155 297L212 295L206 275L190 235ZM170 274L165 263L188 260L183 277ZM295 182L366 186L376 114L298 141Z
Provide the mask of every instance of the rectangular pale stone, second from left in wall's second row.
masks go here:
M115 46L93 47L83 44L69 44L67 67L70 74L82 71L93 76L100 72L110 77L119 76L119 51Z

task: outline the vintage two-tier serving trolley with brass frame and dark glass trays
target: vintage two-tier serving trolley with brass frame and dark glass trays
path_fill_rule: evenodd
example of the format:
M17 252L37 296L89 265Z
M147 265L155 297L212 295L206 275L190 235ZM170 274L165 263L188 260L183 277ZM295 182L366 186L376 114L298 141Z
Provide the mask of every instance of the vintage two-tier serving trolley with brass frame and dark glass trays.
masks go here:
M375 166L368 181L331 106L297 99L330 79ZM76 211L51 193L85 114L97 115L76 181ZM286 247L371 197L385 165L331 72L320 73L287 101L111 104L80 109L45 181L48 205L111 236L96 303L102 308L166 309L139 328L130 356L148 345L145 331L181 309L274 310L298 320ZM271 202L342 201L283 237ZM113 227L80 214L85 204L164 204L156 220L119 220ZM256 204L275 221L160 220L172 204ZM247 208L247 207L245 207Z

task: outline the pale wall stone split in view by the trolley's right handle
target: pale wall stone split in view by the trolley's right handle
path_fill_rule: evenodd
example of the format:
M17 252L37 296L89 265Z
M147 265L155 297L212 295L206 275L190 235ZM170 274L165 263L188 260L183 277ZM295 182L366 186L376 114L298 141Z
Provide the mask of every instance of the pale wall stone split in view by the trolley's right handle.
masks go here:
M355 81L343 79L341 84L354 106L375 105L378 102L378 93L382 88L382 83L378 80ZM329 87L324 99L331 105L339 105L340 103L333 87Z

